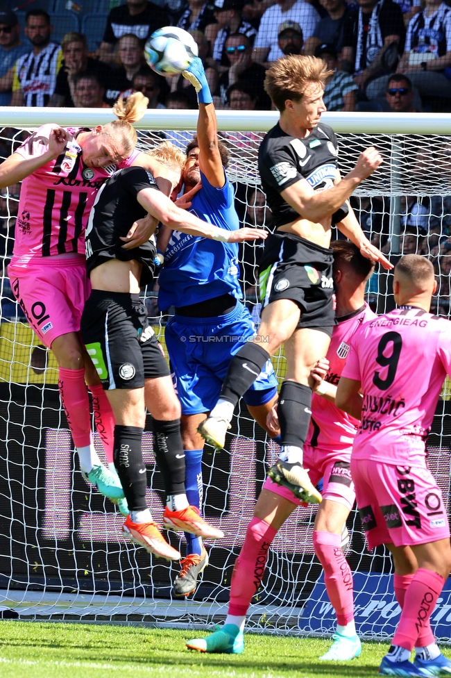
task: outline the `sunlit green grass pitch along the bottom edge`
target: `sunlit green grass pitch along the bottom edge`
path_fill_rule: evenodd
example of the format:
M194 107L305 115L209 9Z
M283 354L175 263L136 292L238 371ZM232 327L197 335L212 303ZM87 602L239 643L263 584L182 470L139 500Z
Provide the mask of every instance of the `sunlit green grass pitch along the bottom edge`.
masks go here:
M365 643L359 659L317 660L330 640L246 636L243 654L200 654L198 631L44 622L0 622L1 678L366 678L388 644ZM445 650L445 654L448 654Z

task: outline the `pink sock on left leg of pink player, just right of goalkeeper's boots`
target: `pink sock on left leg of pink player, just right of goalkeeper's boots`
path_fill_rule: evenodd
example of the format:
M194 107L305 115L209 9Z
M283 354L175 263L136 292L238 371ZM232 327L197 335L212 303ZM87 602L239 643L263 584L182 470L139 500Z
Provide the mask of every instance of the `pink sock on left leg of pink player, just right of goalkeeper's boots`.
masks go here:
M259 587L268 551L277 530L264 520L253 518L248 524L246 538L235 561L230 584L230 615L246 615L250 601Z

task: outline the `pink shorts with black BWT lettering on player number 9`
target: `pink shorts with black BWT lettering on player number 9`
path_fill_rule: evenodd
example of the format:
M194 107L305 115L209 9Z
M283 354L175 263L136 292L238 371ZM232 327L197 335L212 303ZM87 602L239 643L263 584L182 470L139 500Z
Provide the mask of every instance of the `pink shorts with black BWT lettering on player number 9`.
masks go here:
M357 506L368 546L415 546L448 539L441 489L426 466L351 461Z

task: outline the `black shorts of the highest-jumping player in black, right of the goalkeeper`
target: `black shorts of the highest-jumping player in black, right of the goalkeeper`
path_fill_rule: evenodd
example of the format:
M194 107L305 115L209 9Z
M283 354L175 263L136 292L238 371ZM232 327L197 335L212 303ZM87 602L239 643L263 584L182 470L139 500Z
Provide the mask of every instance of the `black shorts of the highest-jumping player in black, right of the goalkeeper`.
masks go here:
M332 249L291 233L269 235L259 262L263 308L278 299L291 299L301 310L298 328L331 336L336 324L332 262Z

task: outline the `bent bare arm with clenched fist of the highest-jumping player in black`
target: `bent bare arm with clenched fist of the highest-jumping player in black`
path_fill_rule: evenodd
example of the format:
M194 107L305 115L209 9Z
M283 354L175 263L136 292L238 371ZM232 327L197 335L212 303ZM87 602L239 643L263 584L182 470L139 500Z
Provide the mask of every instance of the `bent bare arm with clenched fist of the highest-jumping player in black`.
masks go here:
M314 223L321 222L337 212L359 183L371 176L381 164L382 156L374 147L370 147L359 156L354 169L332 188L317 192L306 179L300 179L282 190L280 195L305 219Z

